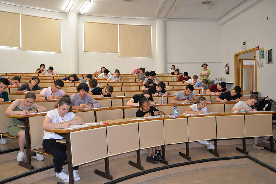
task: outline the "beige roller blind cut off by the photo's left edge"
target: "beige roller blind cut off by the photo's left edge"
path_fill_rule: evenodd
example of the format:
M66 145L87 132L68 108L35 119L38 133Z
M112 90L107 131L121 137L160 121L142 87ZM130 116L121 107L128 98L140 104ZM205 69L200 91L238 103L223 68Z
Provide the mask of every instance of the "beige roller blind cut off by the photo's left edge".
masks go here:
M0 45L20 47L20 14L0 11Z

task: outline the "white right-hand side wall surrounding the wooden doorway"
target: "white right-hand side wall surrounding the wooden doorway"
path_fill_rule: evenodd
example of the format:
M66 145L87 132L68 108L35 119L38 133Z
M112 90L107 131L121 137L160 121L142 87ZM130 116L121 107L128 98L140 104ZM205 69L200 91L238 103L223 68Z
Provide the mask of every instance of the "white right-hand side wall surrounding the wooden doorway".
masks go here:
M275 0L264 0L222 26L223 62L230 65L229 80L234 81L234 54L243 51L243 42L246 41L247 49L256 46L264 49L276 48L275 7ZM268 16L270 19L266 20ZM256 54L256 58L259 58L259 54ZM269 96L271 99L276 99L276 86L269 80L275 78L275 70L275 63L264 62L263 68L257 68L259 97Z

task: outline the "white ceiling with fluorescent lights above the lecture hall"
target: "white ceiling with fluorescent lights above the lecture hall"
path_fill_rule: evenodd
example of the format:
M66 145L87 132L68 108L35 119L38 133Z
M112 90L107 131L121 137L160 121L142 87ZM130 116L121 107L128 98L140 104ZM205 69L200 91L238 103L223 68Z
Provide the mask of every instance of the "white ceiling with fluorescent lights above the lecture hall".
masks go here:
M78 12L85 1L87 0L76 0L70 12ZM85 8L83 15L147 19L218 20L245 0L209 0L211 1L209 5L202 4L203 1L204 0L132 0L132 2L128 2L124 0L93 0L91 4ZM64 13L68 2L69 0L0 0L0 3ZM210 8L214 3L216 4Z

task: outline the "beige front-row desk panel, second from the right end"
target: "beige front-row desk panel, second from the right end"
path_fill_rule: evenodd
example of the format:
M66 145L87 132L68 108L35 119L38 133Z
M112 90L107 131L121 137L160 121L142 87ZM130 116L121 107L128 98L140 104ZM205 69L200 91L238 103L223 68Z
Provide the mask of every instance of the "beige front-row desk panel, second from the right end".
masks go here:
M217 139L245 137L244 115L217 116Z

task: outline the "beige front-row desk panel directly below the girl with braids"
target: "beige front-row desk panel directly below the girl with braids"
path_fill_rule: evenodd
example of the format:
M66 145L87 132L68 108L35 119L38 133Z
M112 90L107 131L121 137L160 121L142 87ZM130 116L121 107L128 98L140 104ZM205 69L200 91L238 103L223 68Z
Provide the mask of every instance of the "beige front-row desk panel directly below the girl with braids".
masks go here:
M139 122L139 139L140 149L164 145L163 120Z

